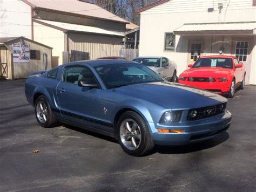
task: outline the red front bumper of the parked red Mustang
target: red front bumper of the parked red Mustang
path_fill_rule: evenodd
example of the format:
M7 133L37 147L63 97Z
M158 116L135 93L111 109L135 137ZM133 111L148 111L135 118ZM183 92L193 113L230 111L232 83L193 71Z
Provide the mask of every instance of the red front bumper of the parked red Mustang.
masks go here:
M195 81L182 81L179 80L180 84L184 84L184 85L188 85L188 86L193 86L193 87L198 87L198 88L202 88L204 90L208 90L208 91L212 91L214 93L218 93L218 94L225 94L227 92L230 91L230 86L231 83L230 82L218 82L218 81L214 81L214 82L195 82Z

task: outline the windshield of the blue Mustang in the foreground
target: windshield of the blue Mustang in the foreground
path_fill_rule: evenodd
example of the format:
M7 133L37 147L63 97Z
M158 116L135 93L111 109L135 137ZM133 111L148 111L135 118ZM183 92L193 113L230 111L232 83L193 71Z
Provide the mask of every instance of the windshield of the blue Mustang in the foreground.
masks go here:
M94 68L107 88L164 81L150 68L140 64L109 64Z

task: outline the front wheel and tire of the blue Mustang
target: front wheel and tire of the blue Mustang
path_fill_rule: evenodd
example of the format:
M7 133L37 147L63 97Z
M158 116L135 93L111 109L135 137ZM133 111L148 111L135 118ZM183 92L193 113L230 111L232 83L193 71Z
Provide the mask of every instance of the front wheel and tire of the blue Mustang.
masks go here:
M129 124L128 128L127 124ZM117 123L117 138L125 153L133 156L146 155L154 147L146 122L139 114L132 111L120 116Z

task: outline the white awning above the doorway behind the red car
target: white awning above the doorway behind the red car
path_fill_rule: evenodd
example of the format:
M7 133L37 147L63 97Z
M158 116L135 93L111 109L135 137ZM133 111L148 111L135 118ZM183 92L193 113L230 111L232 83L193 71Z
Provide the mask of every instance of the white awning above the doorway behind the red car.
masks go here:
M256 22L184 24L174 35L256 35Z

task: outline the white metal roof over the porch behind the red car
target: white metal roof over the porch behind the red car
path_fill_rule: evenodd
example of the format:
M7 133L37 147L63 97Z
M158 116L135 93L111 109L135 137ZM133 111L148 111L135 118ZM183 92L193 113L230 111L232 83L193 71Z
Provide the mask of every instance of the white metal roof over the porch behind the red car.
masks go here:
M183 35L183 32L193 31L247 31L256 34L256 22L232 22L232 23L191 23L184 24L174 30L175 35Z

